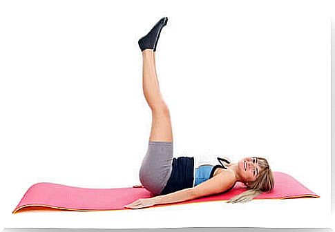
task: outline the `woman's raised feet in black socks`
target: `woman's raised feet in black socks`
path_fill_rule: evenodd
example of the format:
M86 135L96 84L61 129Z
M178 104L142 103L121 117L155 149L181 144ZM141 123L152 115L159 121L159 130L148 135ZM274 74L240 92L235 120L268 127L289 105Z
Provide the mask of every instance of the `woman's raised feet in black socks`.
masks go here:
M150 32L138 41L138 45L140 46L141 51L144 49L153 49L155 52L158 39L160 38L160 32L166 25L167 21L167 17L160 19L160 21L158 21L155 26L153 26Z

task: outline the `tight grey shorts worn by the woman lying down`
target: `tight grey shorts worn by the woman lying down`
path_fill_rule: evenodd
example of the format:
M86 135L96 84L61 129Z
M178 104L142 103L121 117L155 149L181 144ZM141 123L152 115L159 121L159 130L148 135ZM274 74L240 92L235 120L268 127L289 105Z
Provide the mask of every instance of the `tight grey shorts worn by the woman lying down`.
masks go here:
M159 195L172 171L173 142L149 141L148 151L140 168L140 181L145 189Z

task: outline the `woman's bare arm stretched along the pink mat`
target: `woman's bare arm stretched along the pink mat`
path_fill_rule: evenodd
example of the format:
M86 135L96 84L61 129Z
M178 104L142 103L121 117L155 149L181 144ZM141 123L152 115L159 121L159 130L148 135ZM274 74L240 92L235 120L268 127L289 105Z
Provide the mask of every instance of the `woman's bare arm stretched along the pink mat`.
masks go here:
M205 195L222 193L227 189L231 188L233 184L235 184L235 175L232 171L227 170L224 171L222 174L216 175L215 177L212 177L211 179L202 182L201 184L193 188L182 189L180 191L176 191L174 193L169 193L166 195L139 199L131 204L128 204L128 206L125 207L130 209L140 209L156 204L184 202L186 200L193 200L195 198Z

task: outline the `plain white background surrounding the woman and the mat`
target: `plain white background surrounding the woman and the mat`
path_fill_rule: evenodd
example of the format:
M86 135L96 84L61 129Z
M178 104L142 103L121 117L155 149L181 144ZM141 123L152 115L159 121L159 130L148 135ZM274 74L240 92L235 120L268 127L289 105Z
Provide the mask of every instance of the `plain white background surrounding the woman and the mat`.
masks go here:
M329 226L329 8L328 1L1 1L0 227ZM204 203L208 212L194 204L11 215L37 182L140 184L151 112L137 40L161 17L169 21L156 64L175 157L263 156L320 198Z

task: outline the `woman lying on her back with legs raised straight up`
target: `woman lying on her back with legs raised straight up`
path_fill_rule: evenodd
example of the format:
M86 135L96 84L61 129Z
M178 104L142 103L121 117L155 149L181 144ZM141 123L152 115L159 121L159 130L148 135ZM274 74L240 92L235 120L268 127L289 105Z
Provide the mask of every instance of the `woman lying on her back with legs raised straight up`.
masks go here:
M244 183L249 190L228 202L247 202L261 191L271 191L274 177L264 158L247 157L231 164L229 160L218 157L221 165L216 166L199 166L194 157L173 158L169 108L160 93L155 70L157 41L167 21L166 17L160 19L138 41L143 57L143 92L152 112L149 148L140 168L140 181L155 197L139 199L125 207L140 209L155 204L193 200L229 191L236 182Z

